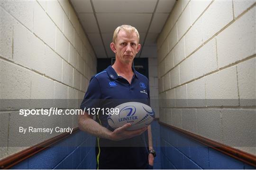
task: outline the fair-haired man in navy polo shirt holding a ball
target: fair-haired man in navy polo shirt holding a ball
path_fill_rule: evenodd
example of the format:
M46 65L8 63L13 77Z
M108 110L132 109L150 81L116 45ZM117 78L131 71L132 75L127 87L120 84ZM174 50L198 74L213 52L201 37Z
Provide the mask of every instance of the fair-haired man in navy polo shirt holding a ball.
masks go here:
M137 29L128 25L117 27L110 48L116 55L115 63L92 76L81 104L81 109L88 111L93 112L96 107L103 110L96 115L96 121L90 113L80 115L79 128L97 136L97 169L153 168L155 151L150 125L134 131L126 130L130 124L113 129L108 125L106 114L108 109L128 101L150 105L148 79L132 67L141 48ZM146 88L146 92L141 88Z

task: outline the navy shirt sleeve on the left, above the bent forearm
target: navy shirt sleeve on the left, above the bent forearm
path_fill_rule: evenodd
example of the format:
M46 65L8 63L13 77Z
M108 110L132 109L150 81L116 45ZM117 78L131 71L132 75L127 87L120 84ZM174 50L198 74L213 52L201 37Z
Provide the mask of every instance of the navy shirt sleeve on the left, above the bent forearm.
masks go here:
M100 83L96 77L92 77L88 86L88 89L84 95L80 108L96 108L100 107L101 88Z

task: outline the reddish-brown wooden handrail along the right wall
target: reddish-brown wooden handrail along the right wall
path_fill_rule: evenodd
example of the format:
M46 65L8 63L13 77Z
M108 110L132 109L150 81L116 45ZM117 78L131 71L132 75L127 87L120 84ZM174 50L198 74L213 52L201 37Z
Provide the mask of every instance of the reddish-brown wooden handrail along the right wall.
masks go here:
M185 131L181 128L165 124L161 121L158 121L158 123L161 124L161 125L164 125L168 128L171 128L171 129L175 130L176 132L178 132L180 134L184 134L184 135L192 138L193 140L196 140L196 141L198 141L198 142L200 142L200 143L202 143L206 146L209 146L212 149L215 149L215 150L217 150L219 152L222 152L226 155L229 155L229 156L231 156L231 157L233 157L233 158L235 158L239 161L245 162L249 165L252 165L252 166L256 167L256 156L255 155L252 155L250 153L238 150L236 148L230 147L230 146L225 145L223 143L213 141L211 139L200 136L198 134L193 134L193 133Z

